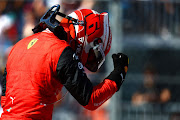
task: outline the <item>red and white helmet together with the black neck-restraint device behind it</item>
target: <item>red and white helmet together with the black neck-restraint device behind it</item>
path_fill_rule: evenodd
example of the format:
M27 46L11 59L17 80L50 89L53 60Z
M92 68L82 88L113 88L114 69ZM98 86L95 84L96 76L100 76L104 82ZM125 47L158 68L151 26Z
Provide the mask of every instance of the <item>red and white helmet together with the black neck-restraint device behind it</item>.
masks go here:
M70 44L87 69L97 71L111 48L108 13L99 14L91 9L81 9L67 16L59 12L59 9L60 5L52 6L33 32L49 28L56 36ZM63 18L59 21L56 19L57 15Z

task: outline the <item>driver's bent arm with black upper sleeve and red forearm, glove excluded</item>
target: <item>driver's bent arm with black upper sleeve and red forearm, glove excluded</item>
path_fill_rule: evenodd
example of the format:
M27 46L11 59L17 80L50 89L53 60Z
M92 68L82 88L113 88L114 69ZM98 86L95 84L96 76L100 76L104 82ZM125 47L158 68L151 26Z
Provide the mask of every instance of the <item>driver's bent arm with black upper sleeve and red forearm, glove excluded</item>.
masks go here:
M116 91L116 82L105 79L97 86L87 78L81 62L70 47L64 49L57 63L57 75L70 94L86 109L94 110Z

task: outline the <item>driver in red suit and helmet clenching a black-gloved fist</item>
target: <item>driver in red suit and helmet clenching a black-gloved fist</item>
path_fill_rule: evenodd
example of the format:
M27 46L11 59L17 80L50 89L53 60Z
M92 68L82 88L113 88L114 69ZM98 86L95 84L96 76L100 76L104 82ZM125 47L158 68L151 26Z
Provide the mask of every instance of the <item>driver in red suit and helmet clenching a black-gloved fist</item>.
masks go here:
M59 9L52 6L34 34L12 48L3 75L2 120L51 120L63 86L88 110L120 89L128 69L125 54L112 55L113 71L96 86L84 71L96 72L111 48L108 13L80 9L65 15Z

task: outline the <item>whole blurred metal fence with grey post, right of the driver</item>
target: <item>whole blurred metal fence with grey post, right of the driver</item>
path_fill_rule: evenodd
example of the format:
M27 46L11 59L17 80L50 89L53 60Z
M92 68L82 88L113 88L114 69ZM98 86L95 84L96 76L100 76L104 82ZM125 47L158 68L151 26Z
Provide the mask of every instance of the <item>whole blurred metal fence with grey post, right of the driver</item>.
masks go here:
M130 65L119 95L112 100L110 120L179 120L180 1L121 0L116 4L119 16L113 29L118 32L112 49L128 54ZM142 89L149 76L147 68L152 70L150 74L156 74L153 78L158 84L158 99L163 88L171 92L166 103L157 100L133 104L134 93Z

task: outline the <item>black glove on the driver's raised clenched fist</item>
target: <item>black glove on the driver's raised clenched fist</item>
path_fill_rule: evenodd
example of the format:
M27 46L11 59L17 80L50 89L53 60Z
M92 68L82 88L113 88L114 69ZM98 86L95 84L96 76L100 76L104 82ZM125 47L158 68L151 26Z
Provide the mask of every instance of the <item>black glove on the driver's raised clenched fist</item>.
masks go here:
M107 79L115 81L119 90L128 70L129 58L123 53L113 54L112 58L114 70L110 73Z

